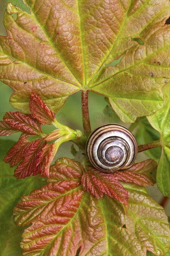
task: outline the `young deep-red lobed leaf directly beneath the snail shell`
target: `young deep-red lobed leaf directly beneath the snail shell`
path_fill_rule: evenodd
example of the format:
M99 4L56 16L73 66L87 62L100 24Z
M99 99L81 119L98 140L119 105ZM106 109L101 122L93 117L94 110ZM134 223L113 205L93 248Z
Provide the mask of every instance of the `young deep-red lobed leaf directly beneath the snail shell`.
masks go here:
M146 160L134 164L126 171L105 173L94 168L86 169L82 176L82 187L97 198L108 195L127 205L128 193L119 183L131 182L141 186L153 185L156 179L157 162Z

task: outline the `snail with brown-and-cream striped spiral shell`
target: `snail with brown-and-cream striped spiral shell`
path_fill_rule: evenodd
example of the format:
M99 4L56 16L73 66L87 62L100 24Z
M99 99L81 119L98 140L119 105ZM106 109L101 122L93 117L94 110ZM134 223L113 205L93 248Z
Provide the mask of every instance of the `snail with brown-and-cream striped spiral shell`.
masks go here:
M107 124L96 128L86 143L86 154L92 166L103 172L130 168L137 156L137 142L125 127Z

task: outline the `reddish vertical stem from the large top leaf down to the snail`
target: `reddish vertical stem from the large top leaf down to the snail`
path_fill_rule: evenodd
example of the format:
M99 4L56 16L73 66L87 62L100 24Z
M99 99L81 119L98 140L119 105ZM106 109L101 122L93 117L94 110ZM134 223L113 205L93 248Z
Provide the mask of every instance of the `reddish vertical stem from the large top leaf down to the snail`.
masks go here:
M88 108L88 91L82 91L81 102L82 102L82 120L83 120L84 133L86 136L88 136L89 134L91 134L89 108Z

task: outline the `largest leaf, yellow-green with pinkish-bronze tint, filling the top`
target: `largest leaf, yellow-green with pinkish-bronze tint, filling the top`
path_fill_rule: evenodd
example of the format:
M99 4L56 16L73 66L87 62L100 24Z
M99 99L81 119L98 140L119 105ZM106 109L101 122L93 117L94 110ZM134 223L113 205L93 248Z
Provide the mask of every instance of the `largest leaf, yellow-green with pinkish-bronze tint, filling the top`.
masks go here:
M31 14L8 4L0 38L1 80L14 90L14 108L28 112L33 91L56 112L79 90L108 97L122 121L162 107L169 0L24 2Z

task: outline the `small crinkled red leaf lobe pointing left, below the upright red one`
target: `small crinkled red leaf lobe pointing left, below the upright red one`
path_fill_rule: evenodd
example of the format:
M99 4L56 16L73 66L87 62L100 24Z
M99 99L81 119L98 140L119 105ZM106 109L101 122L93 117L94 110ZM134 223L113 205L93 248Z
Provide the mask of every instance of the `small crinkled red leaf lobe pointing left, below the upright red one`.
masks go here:
M21 112L7 112L3 117L11 128L29 135L41 134L40 124L31 117L31 115L23 115Z

